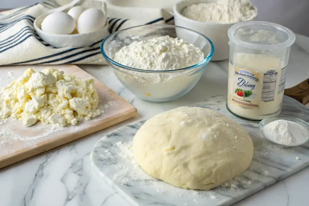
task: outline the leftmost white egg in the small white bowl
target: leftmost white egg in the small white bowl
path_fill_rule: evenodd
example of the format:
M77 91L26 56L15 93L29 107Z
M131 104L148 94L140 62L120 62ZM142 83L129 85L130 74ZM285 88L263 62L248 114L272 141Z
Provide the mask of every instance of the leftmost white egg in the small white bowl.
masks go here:
M44 32L51 34L70 34L75 28L73 17L65 12L54 12L46 16L41 24Z

